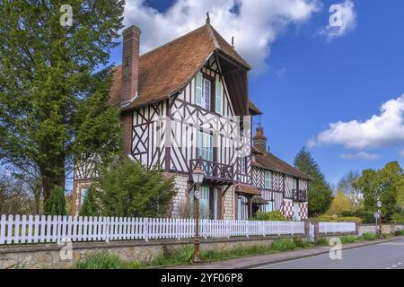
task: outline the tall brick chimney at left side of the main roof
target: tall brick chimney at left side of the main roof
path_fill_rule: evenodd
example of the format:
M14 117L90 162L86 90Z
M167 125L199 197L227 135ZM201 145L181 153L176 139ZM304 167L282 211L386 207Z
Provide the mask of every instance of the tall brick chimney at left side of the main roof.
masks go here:
M123 31L121 104L125 105L137 96L139 83L140 29L135 25Z

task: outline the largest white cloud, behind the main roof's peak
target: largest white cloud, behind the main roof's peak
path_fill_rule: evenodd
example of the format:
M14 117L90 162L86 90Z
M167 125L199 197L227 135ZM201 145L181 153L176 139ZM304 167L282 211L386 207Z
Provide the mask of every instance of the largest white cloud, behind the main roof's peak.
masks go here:
M124 22L141 28L141 51L146 52L198 28L209 11L215 29L229 42L234 37L237 51L259 74L267 68L277 34L319 9L319 0L178 0L161 13L144 0L127 0Z

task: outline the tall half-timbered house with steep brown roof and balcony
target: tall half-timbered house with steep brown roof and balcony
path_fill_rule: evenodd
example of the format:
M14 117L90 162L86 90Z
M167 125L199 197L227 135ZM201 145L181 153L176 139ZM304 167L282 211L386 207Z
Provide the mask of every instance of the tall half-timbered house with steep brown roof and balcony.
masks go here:
M250 117L261 112L249 98L250 65L208 19L206 25L141 57L140 33L136 26L124 30L122 65L114 71L110 91L111 104L121 109L127 155L174 178L178 194L173 217L191 214L190 173L197 166L205 173L199 200L202 218L246 219L258 208L267 210L277 193L258 184L261 173L265 178L266 169L274 176L282 171L259 166L259 159L268 155L251 143ZM88 165L75 172L75 214L91 181L84 168ZM297 171L283 174L284 183L289 176L307 178ZM294 198L285 196L284 189L278 192L283 193L282 203L274 209L288 211L285 202Z

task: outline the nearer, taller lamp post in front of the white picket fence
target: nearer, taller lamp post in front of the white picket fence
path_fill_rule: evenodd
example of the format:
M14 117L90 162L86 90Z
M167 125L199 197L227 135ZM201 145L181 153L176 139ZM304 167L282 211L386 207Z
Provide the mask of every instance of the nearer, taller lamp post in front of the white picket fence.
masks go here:
M195 218L195 237L194 237L194 257L193 264L200 263L199 258L199 186L204 181L204 172L199 168L192 171L192 180L194 182L194 218Z

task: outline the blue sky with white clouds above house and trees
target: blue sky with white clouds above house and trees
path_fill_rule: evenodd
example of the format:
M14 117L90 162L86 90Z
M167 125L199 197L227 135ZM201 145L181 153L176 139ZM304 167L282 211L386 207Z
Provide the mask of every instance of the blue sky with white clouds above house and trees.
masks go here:
M404 165L402 0L297 0L303 9L289 0L259 1L268 2L262 7L269 14L257 16L260 22L248 18L258 12L242 1L240 15L220 16L229 1L223 7L212 1L207 10L226 39L235 35L237 50L258 71L250 75L250 98L264 112L271 152L292 162L309 146L331 183L349 170L378 169L388 161ZM351 22L329 39L329 6L344 1L352 4L354 14L345 18ZM203 24L206 4L189 3L128 1L125 22L143 30L142 51ZM111 61L119 64L120 53L114 49Z

